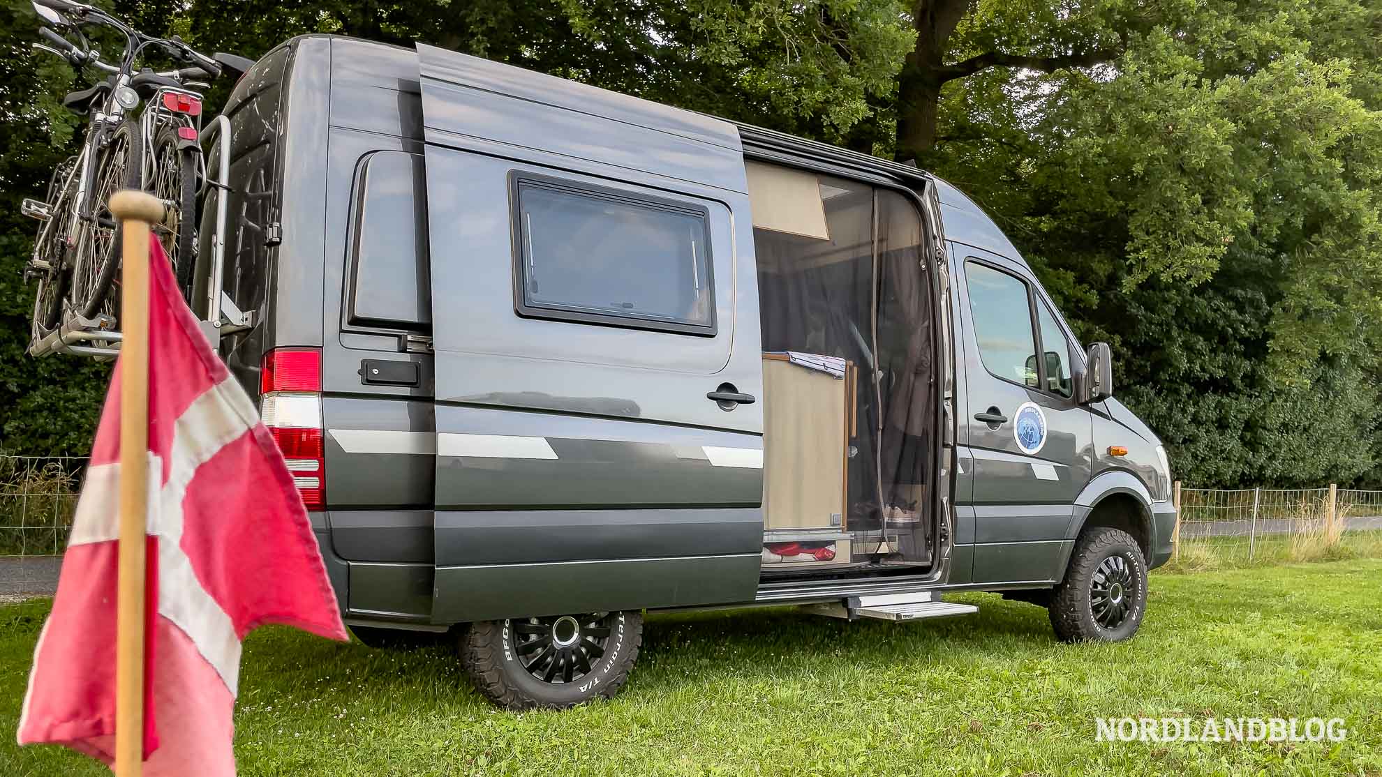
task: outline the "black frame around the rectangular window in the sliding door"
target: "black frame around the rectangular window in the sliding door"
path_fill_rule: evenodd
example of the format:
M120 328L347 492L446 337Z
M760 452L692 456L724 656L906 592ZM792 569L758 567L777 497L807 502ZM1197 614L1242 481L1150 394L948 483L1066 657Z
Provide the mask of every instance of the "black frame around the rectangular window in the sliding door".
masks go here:
M535 186L553 192L561 192L579 197L607 200L618 204L647 207L680 215L690 215L701 219L702 244L705 246L705 284L709 294L708 311L709 322L705 324L688 324L683 322L669 322L651 316L632 313L597 313L562 305L533 305L528 301L528 262L524 261L522 239L522 201L524 186ZM521 170L509 173L509 213L510 213L510 244L513 248L514 265L514 312L524 319L539 319L551 322L567 322L578 324L607 326L616 328L633 328L644 331L663 331L670 334L688 334L695 337L716 337L719 334L719 320L716 315L714 290L714 253L710 246L710 208L687 200L674 200L627 189L600 186L569 178L542 175Z

